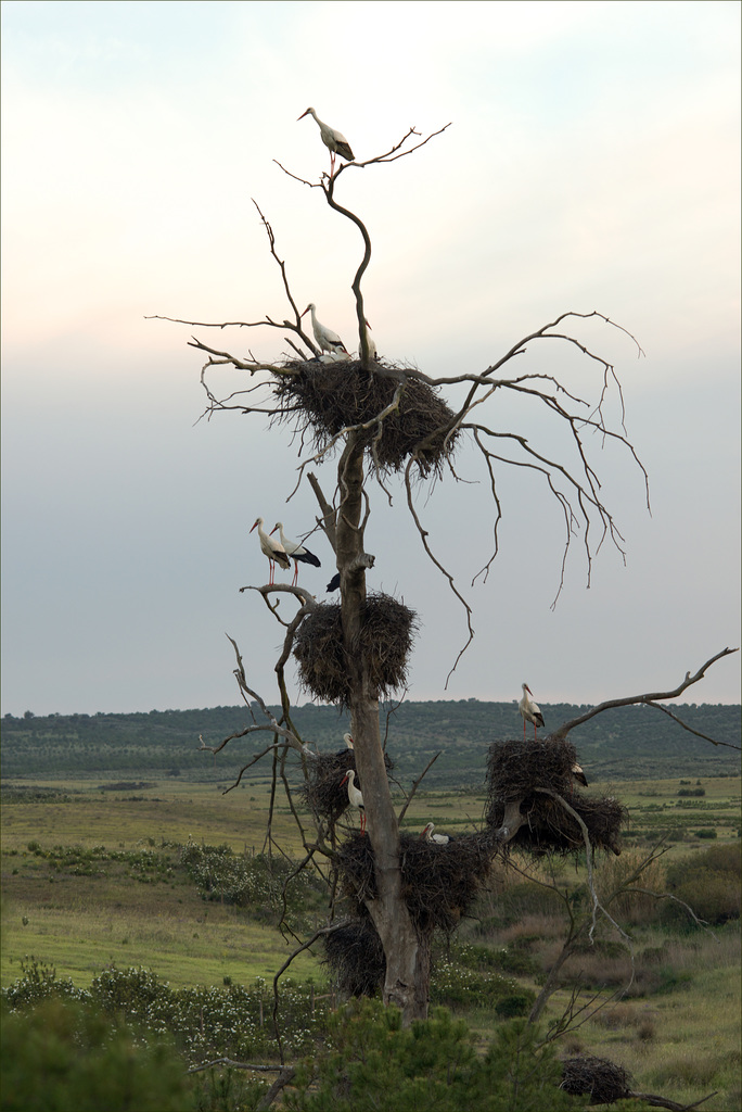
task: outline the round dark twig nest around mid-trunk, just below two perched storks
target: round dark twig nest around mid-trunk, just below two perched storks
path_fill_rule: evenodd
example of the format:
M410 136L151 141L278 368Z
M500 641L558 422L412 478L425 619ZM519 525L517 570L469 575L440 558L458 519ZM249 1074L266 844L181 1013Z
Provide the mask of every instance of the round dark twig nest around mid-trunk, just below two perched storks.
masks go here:
M361 634L351 652L365 661L378 698L388 698L405 686L407 662L417 625L414 610L391 595L367 597ZM350 688L339 604L323 603L307 615L299 626L293 655L305 691L325 703L348 706Z

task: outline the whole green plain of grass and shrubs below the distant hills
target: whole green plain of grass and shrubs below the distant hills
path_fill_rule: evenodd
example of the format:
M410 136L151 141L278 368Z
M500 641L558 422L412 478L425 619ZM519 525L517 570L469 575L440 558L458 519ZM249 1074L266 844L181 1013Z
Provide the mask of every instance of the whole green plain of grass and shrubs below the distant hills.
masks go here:
M679 800L676 778L634 782L625 794L610 787L625 798L631 823L622 855L599 855L599 892L630 876L661 834L666 853L644 874L644 891L611 905L630 943L601 929L592 945L575 951L538 1036L524 1026L528 1014L561 950L568 909L579 913L586 901L579 861L575 867L572 858L547 856L534 865L514 852L507 868L495 864L471 917L435 943L431 1003L443 1011L417 1027L417 1043L373 1002L339 1011L321 945L301 953L280 982L281 1049L290 1061L305 1060L283 1090L284 1106L350 1109L340 1079L352 1076L354 1109L363 1106L363 1085L373 1083L378 1108L388 1099L394 1110L459 1109L465 1092L472 1110L545 1112L582 1100L554 1088L552 1066L561 1069L566 1058L584 1065L598 1055L625 1070L634 1091L691 1103L715 1090L709 1112L739 1109L740 782L704 777L693 786L705 795ZM82 1048L93 1094L92 1104L80 1103L74 1078L61 1069L54 1099L69 1103L50 1106L257 1108L280 1064L272 977L298 944L292 932L307 937L324 921L321 884L309 875L284 900L291 865L262 852L265 791L250 785L223 796L213 786L142 781L114 791L84 782L37 784L28 795L20 788L2 811L2 1007L12 1036L3 1092L21 1103L3 1095L1 1106L40 1106L33 1070L27 1070L31 1089L9 1086L4 1075L12 1080L18 1063L28 1063L19 1045L33 1048L40 1061L39 1032L49 1031L52 1056L63 1061L64 1040ZM457 833L471 828L483 802L420 794L405 825L419 831L432 820ZM679 822L679 802L704 808L703 826L718 834L712 844L696 836L698 822ZM295 838L288 808L277 808L273 823L284 840ZM277 931L281 921L285 937ZM575 981L578 1006L592 1000L598 1010L553 1040ZM113 1055L110 1070L103 1044ZM418 1053L429 1063L422 1089ZM116 1055L126 1054L130 1090L116 1065ZM222 1063L187 1073L219 1059L275 1070L267 1075ZM100 1088L107 1073L119 1080ZM168 1104L158 1083L172 1078ZM444 1078L454 1082L447 1088ZM129 1091L148 1095L117 1104Z

